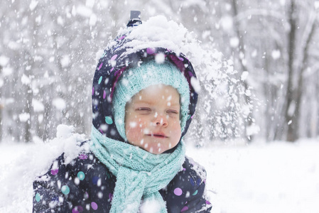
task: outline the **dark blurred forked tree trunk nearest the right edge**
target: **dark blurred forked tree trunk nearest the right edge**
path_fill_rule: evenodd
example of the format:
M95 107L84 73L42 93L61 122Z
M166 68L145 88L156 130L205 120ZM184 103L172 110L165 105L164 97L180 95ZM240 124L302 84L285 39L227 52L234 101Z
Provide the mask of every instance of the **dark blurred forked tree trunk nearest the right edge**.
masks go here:
M286 124L288 124L287 141L296 141L299 138L303 73L308 68L308 50L315 33L317 19L314 4L314 1L310 1L298 5L297 1L291 0L288 9L290 31L288 32L288 84L285 109ZM306 17L301 15L304 14L305 6L308 14ZM298 36L298 24L301 23L304 27L301 35Z

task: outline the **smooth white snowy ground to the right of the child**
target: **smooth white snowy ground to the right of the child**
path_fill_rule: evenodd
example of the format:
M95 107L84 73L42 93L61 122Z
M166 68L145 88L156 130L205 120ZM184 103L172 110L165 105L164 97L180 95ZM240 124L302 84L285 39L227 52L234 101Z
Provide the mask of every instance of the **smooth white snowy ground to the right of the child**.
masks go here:
M319 142L188 150L207 169L212 212L319 212Z

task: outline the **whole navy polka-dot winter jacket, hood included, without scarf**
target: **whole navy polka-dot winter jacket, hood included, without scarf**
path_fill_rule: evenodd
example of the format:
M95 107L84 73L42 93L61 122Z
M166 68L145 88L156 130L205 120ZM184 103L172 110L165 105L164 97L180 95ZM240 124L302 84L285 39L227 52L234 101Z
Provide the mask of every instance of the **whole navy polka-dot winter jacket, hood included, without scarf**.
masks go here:
M188 131L198 99L190 83L196 77L193 66L183 53L177 54L164 46L132 51L134 42L126 36L129 37L129 33L139 24L139 20L130 20L127 29L119 33L99 59L92 88L92 123L104 136L125 143L114 124L112 111L117 81L125 70L138 66L141 61L155 60L156 55L161 53L178 67L190 85L189 114L183 137ZM210 212L210 202L204 196L205 179L204 168L185 158L180 172L166 188L159 191L168 212ZM80 153L78 158L67 164L64 154L60 155L48 173L33 182L33 212L109 212L116 180L93 153Z

